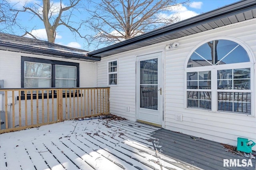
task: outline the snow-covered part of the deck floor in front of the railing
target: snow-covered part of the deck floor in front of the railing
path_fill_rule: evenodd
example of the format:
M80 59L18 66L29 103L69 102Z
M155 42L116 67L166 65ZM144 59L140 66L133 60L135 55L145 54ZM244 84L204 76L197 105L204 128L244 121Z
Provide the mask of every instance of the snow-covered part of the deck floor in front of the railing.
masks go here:
M88 119L0 135L0 170L196 169L158 152L160 128Z

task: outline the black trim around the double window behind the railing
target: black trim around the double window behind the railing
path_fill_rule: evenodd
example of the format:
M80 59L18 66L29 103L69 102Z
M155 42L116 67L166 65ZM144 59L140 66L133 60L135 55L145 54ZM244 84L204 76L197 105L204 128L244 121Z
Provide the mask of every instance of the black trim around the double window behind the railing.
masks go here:
M51 64L51 86L50 88L55 88L55 79L56 79L56 74L55 74L55 69L56 65L64 65L64 66L75 66L76 67L76 87L79 87L79 63L72 63L72 62L66 62L66 61L57 61L57 60L50 60L50 59L42 59L42 58L36 58L36 57L25 57L21 56L21 88L24 88L24 63L25 62L31 62L31 63L43 63L43 64ZM33 94L36 95L36 94ZM52 95L52 94L51 94ZM56 98L55 93L53 94L54 98ZM39 94L39 98L42 98L42 94ZM44 94L44 97L46 94ZM30 94L27 94L27 97L30 97ZM21 94L21 100L24 99L24 92ZM34 99L34 96L33 96Z

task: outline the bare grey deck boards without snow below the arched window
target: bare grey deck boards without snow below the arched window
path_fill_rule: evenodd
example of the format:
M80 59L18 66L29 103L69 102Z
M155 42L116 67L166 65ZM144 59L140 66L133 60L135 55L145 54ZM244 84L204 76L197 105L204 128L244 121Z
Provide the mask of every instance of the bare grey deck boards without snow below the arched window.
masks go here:
M226 152L226 149L217 142L200 139L192 139L189 135L159 129L152 134L159 139L158 149L163 154L177 158L199 168L210 170L254 170L256 160L252 160L254 167L223 167L223 159L247 159L240 155Z

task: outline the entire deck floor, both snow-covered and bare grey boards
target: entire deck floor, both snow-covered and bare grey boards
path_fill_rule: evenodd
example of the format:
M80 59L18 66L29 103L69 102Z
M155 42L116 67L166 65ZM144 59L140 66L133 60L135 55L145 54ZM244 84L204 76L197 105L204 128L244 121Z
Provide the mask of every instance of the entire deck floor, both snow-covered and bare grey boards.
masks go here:
M69 120L1 134L0 169L220 170L223 158L244 158L225 150L219 143L132 121Z

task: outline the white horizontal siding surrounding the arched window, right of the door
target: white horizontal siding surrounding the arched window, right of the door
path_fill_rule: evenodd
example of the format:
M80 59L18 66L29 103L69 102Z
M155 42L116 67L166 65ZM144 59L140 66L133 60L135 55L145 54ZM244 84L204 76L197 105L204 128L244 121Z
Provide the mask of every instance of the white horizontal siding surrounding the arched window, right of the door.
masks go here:
M256 20L214 29L186 38L176 39L180 43L178 49L165 53L165 128L179 131L196 137L237 144L237 137L256 141L256 106L254 116L233 113L214 113L201 109L185 109L184 65L190 51L199 43L214 37L233 37L253 51L256 56ZM255 74L255 73L254 73ZM254 76L255 77L255 76ZM255 99L254 78L254 99ZM254 100L255 102L255 100ZM176 121L175 114L181 113L183 121ZM256 150L256 147L253 148Z

